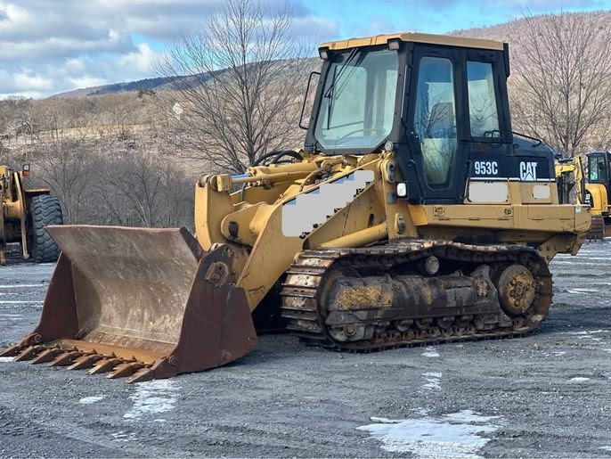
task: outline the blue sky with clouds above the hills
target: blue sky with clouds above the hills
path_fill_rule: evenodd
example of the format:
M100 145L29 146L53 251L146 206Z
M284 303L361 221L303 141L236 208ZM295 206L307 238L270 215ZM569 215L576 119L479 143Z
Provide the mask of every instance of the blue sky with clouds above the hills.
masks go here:
M283 4L287 0L262 0ZM289 0L308 42L398 31L445 33L611 0ZM0 0L0 98L153 78L160 53L223 0Z

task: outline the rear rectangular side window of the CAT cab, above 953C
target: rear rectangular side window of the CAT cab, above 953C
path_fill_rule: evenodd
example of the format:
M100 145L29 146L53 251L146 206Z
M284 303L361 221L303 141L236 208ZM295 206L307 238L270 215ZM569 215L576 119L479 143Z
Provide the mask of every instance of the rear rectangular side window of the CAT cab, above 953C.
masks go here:
M468 113L473 137L500 137L493 64L467 61Z

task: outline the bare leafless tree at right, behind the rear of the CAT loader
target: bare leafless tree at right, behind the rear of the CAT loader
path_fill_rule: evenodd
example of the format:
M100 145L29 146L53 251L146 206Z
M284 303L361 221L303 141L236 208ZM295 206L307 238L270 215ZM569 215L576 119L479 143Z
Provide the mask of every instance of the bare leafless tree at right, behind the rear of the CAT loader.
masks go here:
M515 46L514 125L574 156L589 137L608 135L603 126L611 116L611 29L602 20L566 12L526 21Z

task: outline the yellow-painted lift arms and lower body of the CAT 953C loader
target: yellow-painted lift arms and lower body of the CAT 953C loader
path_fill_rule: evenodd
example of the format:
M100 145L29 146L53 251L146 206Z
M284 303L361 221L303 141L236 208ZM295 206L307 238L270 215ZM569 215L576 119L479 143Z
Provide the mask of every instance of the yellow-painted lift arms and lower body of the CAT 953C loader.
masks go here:
M460 235L490 238L494 234L495 241L500 243L537 246L553 240L550 248L544 249L544 255L550 258L558 252L574 252L590 226L590 209L559 205L557 193L550 193L546 201L551 203L524 204L524 201L533 201L534 184L511 183L510 201L505 204L413 205L404 199L392 199L395 182L402 180L398 170L395 170L395 180L391 180L389 171L393 163L393 154L388 152L363 157L314 155L305 165L249 168L248 174L258 178L248 181L243 193L216 191L211 185L219 184L216 177L205 178L196 188L198 240L206 250L217 242L243 248L237 284L245 289L248 304L254 309L297 254L305 249L361 247L402 238L452 240ZM330 176L304 187L305 177L324 164L332 165ZM374 181L353 201L310 233L301 237L282 234L281 213L285 202L300 193L311 193L325 181L346 176L357 168L372 170ZM554 189L554 184L550 188ZM403 218L403 234L398 231L399 216ZM231 222L237 225L232 227L234 234L230 231ZM560 239L559 232L564 233Z

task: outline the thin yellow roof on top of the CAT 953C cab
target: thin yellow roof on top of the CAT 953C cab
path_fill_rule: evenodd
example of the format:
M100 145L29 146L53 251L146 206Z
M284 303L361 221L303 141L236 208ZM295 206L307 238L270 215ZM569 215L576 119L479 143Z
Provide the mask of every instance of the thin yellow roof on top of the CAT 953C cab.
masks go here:
M386 45L389 40L399 39L404 42L428 43L430 45L460 46L466 48L503 50L503 43L482 38L453 37L449 35L423 34L419 32L402 32L397 34L376 35L374 37L348 38L323 43L319 49L342 50L362 46Z

